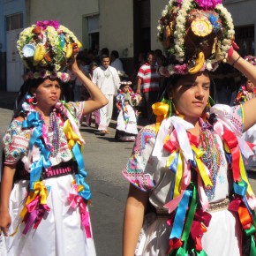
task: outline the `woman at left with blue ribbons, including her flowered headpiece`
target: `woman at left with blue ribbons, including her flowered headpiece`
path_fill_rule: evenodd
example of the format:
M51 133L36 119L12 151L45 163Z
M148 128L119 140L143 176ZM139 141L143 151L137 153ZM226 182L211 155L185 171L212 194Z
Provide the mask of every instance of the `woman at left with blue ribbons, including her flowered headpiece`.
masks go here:
M37 21L19 34L19 55L29 72L3 139L0 234L8 255L96 255L79 119L108 100L79 70L79 45L56 20ZM60 101L70 79L61 72L65 67L91 100Z

